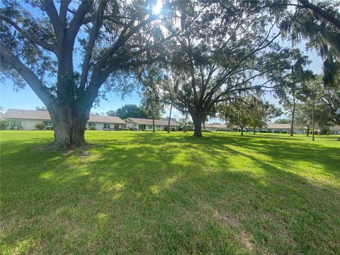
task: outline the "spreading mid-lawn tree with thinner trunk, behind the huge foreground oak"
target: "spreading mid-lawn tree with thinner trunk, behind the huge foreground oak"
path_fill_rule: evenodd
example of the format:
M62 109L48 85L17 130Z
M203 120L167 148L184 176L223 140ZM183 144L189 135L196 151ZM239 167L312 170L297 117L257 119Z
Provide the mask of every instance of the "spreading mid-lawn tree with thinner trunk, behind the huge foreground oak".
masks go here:
M259 89L262 84L254 80L269 72L282 77L289 68L288 54L273 43L279 36L273 30L275 21L251 1L181 2L184 36L167 49L177 72L174 106L188 111L193 135L201 137L202 123L217 103L239 91ZM272 27L265 29L270 22Z

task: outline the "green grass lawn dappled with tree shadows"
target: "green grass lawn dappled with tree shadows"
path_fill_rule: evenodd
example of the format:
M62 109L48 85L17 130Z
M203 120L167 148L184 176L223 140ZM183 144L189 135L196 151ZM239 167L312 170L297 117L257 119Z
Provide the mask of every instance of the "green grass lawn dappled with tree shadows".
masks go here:
M1 132L1 253L340 254L336 136L191 135Z

